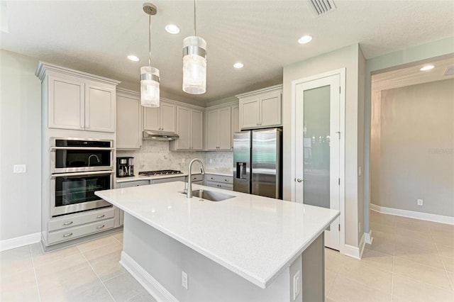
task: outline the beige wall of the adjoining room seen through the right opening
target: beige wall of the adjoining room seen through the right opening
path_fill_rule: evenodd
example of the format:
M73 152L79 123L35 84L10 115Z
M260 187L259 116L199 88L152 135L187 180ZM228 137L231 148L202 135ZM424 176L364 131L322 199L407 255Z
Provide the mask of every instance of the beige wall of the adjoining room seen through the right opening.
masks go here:
M384 90L377 101L372 203L454 216L454 79Z

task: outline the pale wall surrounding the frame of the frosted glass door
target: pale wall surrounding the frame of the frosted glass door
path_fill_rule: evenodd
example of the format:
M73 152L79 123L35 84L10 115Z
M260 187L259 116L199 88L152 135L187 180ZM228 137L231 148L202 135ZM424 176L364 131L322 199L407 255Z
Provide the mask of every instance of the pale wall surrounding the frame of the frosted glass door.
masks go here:
M345 244L358 247L358 222L362 221L360 203L362 196L358 195L358 164L362 155L362 137L358 127L362 124L360 116L363 111L361 103L364 100L362 88L358 86L359 72L364 69L364 57L359 45L351 45L340 50L328 52L309 60L297 62L284 67L284 97L283 97L283 120L284 120L284 199L291 200L292 181L292 81L311 77L316 74L330 72L334 69L346 68L346 104L345 104Z

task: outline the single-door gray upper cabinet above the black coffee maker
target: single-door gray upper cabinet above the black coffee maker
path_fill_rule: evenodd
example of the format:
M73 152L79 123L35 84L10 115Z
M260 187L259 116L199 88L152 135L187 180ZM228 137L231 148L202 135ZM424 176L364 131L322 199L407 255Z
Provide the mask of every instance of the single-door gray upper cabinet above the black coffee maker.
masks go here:
M140 94L116 91L116 148L122 150L142 147L142 106Z

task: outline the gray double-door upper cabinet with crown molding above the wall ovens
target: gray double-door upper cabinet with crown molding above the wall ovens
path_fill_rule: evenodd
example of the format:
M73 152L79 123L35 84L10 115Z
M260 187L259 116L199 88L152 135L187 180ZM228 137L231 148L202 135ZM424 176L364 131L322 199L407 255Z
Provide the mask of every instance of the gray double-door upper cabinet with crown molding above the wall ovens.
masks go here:
M40 62L48 128L115 132L116 85L120 82Z

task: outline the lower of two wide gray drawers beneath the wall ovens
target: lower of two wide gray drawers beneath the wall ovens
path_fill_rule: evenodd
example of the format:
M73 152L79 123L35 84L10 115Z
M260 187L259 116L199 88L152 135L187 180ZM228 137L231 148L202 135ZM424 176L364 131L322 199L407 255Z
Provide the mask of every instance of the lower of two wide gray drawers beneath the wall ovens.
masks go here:
M95 223L88 223L86 225L79 225L74 228L67 228L65 230L58 230L51 232L48 235L48 244L52 245L57 242L72 240L77 237L86 236L92 233L102 232L114 228L115 218L97 221Z

